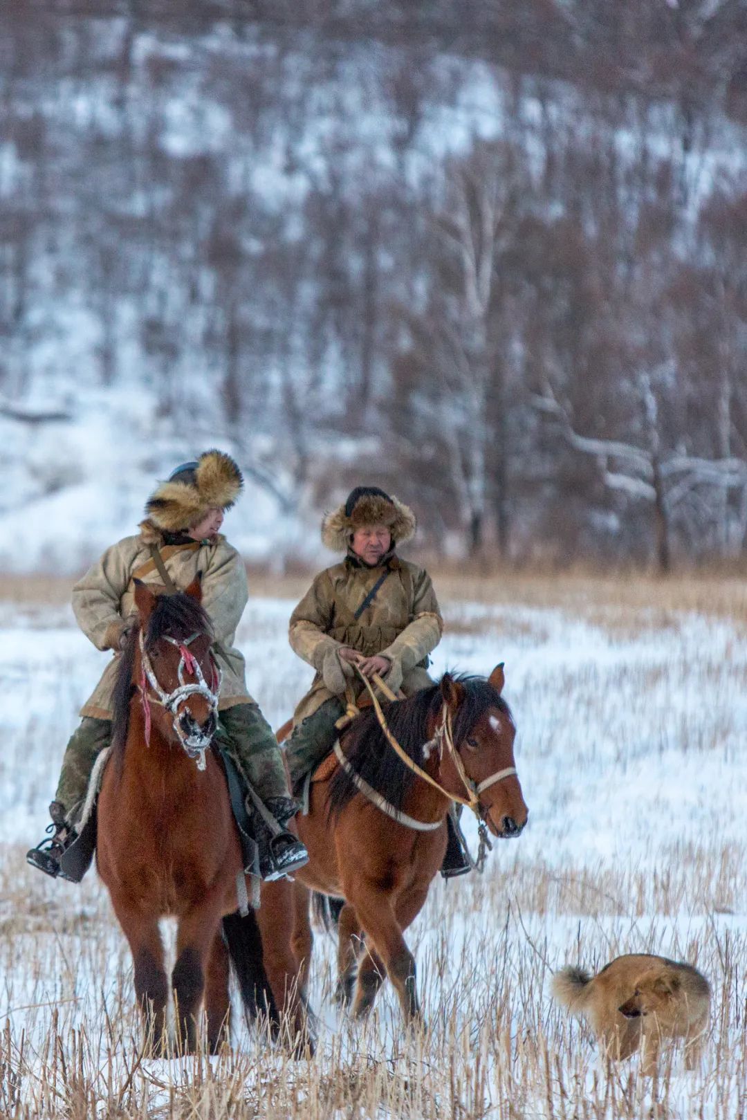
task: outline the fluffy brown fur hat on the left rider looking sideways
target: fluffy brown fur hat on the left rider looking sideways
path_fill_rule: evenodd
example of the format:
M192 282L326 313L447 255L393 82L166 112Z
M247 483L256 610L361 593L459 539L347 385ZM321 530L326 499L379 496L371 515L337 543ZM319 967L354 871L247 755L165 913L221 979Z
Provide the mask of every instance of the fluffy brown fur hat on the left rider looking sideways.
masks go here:
M146 513L158 529L178 533L196 525L208 510L230 510L244 485L236 463L224 451L205 451L195 464L174 472L146 503Z

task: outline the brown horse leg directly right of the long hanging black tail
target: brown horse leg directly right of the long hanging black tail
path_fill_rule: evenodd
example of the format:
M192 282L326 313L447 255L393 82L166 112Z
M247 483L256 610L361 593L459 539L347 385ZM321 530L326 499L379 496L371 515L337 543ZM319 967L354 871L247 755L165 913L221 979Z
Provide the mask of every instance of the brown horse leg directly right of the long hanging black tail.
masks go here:
M262 963L283 1024L287 1045L292 1054L300 1056L307 1047L314 1049L314 1038L301 992L300 969L291 943L293 888L295 884L287 879L263 883L256 924L262 939Z

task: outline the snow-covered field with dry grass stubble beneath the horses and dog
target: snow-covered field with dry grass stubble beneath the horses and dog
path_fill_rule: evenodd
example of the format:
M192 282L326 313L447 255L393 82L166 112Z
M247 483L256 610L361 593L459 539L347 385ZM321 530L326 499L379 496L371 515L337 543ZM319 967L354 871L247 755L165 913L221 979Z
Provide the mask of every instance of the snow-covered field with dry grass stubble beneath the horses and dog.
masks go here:
M433 671L506 663L530 821L484 876L435 884L410 931L428 1030L385 987L370 1021L332 1001L315 944L319 1048L290 1062L240 1026L231 1055L140 1061L132 971L103 888L28 868L76 711L105 663L67 607L0 604L0 1114L29 1117L725 1118L747 1109L745 622L595 585L445 604ZM282 588L280 588L282 589ZM676 598L676 596L674 596ZM701 596L701 598L703 598ZM706 597L707 600L707 597ZM310 672L287 597L252 600L250 689L282 722ZM687 607L687 609L685 609ZM470 831L474 834L474 830ZM713 1008L702 1065L608 1067L550 1000L551 971L624 952L691 961Z

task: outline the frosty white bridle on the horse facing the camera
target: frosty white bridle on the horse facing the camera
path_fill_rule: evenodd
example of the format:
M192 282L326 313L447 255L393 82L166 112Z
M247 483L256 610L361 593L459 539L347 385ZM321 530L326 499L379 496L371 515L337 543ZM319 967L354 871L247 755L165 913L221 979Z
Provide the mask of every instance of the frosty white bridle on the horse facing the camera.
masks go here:
M221 691L221 680L223 674L221 673L220 668L215 664L211 653L211 666L213 669L213 687L211 688L205 680L203 671L199 668L199 663L189 652L189 645L199 636L199 632L190 634L189 637L181 640L169 637L167 634L164 635L164 641L175 645L180 653L179 666L177 669L177 679L179 683L172 692L166 692L158 682L152 663L148 656L143 633L140 631L140 663L142 672L138 689L140 691L140 700L146 721L146 743L150 745L150 704L159 703L171 715L174 731L185 752L190 758L197 759L197 769L203 771L205 769L205 752L213 741L213 736L206 736L202 731L187 735L181 726L180 719L178 718L179 704L184 703L185 700L188 700L189 697L193 696L204 697L207 701L211 716L217 715L218 693ZM185 672L190 673L195 678L195 681L187 683L185 681ZM148 685L150 685L155 696L149 693Z

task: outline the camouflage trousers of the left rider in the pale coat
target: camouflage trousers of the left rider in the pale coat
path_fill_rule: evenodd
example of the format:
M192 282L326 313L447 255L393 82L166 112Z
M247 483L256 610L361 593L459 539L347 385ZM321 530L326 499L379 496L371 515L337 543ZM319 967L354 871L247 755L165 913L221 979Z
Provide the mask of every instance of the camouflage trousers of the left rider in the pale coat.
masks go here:
M282 755L272 728L255 703L240 703L220 713L218 739L263 801L287 797ZM109 719L85 716L65 748L55 800L65 816L75 821L85 801L88 780L99 754L112 737Z

